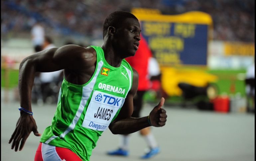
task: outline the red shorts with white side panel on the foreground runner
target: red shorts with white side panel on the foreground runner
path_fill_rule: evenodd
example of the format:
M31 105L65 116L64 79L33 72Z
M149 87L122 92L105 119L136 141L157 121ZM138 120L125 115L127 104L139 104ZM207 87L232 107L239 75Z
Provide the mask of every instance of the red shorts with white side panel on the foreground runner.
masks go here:
M56 147L40 142L34 161L82 161L68 148Z

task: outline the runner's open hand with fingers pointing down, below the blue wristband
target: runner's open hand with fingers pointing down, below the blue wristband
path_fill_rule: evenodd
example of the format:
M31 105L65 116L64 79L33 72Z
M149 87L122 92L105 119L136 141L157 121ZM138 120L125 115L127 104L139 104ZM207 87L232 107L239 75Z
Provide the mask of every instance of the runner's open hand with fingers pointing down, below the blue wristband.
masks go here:
M37 131L37 124L33 116L26 113L21 113L21 116L17 121L16 128L9 140L9 144L13 141L12 149L15 147L14 150L17 151L21 141L19 150L22 150L31 131L34 132L34 135L41 136L41 134Z

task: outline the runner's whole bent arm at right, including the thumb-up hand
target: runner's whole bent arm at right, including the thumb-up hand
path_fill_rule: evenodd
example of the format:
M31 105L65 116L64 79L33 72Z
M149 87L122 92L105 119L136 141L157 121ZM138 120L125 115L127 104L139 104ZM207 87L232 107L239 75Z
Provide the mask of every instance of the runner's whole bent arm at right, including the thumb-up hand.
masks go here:
M145 127L151 126L148 122L148 116L142 118L132 118L133 113L133 97L138 88L138 73L133 70L133 85L129 91L124 105L120 110L117 118L109 125L109 129L113 134L129 134L139 131ZM150 122L153 126L164 126L166 122L166 111L161 107L164 104L164 98L160 103L150 112Z

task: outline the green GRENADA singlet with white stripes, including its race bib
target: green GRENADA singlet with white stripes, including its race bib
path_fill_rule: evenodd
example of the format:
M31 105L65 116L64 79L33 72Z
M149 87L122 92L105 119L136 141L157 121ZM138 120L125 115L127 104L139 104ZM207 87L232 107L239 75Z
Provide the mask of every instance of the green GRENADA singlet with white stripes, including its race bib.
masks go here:
M107 129L124 104L132 86L132 68L123 59L120 67L110 66L99 46L97 63L90 80L76 85L63 80L57 109L40 139L49 145L65 147L88 161L101 133Z

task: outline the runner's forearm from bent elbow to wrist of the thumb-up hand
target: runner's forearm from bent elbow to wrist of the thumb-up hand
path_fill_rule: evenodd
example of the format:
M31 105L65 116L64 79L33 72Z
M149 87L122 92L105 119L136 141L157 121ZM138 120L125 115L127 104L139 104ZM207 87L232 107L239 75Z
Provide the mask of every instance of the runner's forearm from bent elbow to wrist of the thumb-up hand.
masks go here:
M113 134L129 134L150 126L148 117L127 118L111 122L109 129Z

